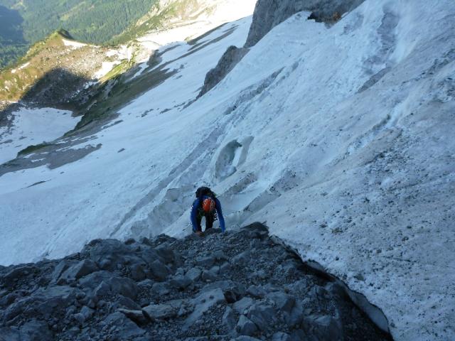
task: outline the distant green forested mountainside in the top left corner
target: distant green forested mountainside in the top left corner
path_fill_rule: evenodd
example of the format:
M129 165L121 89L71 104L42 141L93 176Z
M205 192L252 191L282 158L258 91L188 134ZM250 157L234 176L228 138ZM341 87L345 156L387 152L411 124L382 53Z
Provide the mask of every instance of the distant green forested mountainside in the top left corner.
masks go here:
M87 43L107 43L148 13L156 0L0 0L0 67L65 28Z

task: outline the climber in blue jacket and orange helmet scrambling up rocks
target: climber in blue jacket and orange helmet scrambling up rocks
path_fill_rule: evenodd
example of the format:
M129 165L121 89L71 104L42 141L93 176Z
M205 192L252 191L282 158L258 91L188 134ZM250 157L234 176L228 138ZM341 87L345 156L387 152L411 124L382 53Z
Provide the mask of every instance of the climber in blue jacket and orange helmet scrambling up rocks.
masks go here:
M225 232L225 218L221 210L221 203L215 196L215 193L208 187L200 187L196 190L196 200L191 207L191 224L193 224L193 232L196 234L202 233L200 222L202 217L205 217L205 231L213 227L215 220L220 220L221 231Z

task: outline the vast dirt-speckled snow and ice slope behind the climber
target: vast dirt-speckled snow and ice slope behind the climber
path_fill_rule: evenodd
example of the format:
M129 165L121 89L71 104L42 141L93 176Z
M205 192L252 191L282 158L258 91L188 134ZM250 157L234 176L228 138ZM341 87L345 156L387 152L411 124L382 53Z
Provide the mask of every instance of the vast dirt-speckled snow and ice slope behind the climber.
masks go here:
M367 0L333 26L308 16L196 102L251 18L161 48L157 67L175 73L73 147L101 148L1 176L1 263L188 234L207 184L228 228L267 221L378 305L397 340L454 339L455 4Z

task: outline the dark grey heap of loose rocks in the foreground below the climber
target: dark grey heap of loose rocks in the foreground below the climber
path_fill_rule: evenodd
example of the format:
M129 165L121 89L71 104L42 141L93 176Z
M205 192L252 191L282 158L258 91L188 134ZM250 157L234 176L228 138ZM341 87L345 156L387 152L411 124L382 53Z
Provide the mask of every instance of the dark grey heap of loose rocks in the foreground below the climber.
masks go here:
M391 340L255 223L0 269L0 340Z

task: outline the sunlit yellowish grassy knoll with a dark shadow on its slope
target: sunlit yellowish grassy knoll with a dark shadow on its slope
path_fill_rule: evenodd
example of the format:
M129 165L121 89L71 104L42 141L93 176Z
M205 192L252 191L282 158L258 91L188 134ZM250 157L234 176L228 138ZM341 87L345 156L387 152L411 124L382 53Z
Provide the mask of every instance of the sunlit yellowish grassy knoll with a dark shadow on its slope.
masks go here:
M106 60L106 49L95 45L72 48L65 45L64 39L72 38L67 31L55 31L33 44L18 61L20 66L0 72L0 100L34 102L34 97L44 100L49 93L48 97L61 102L91 80L95 70Z

